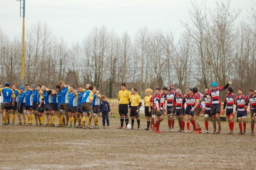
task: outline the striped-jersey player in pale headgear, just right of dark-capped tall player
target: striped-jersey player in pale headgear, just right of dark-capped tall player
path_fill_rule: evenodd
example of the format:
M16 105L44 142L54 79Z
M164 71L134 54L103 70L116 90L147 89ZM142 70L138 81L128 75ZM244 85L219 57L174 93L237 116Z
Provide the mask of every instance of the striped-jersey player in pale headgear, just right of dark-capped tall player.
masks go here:
M177 95L175 96L176 99L176 116L179 121L180 130L177 132L184 132L185 121L184 121L184 113L185 113L185 97L181 93L181 89L176 89Z

